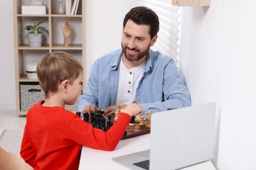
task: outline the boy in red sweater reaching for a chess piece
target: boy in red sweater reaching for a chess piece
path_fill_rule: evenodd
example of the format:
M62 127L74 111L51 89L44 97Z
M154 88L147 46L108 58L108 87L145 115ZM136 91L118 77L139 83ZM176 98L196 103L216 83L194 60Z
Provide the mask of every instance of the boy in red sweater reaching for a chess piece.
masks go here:
M20 155L34 169L78 169L81 146L114 150L140 105L127 105L106 132L68 110L81 93L83 67L65 52L51 52L37 65L45 99L28 111Z

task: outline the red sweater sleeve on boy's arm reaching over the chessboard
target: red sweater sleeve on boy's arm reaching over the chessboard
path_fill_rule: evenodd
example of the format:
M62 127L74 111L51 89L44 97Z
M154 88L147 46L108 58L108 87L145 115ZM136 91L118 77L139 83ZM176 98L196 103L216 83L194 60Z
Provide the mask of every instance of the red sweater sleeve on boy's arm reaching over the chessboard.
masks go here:
M96 129L78 116L70 122L69 135L72 141L100 150L114 150L123 137L131 116L120 113L114 125L106 132Z

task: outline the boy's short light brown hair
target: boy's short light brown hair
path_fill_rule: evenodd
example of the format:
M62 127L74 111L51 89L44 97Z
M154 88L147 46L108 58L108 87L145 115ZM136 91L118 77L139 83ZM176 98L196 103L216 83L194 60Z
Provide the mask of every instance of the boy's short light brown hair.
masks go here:
M37 77L45 98L49 98L49 92L58 91L58 85L64 80L72 84L83 73L83 67L79 61L66 52L51 52L37 64Z

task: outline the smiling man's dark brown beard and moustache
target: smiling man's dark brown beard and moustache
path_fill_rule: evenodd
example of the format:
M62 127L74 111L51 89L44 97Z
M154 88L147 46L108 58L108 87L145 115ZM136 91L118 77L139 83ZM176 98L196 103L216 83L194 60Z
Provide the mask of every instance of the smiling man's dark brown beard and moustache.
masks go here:
M131 61L133 63L139 61L140 59L144 58L144 56L146 56L148 54L148 51L150 50L150 45L148 46L148 48L146 48L146 50L140 52L140 50L138 50L137 48L132 48L130 49L128 46L122 46L122 50L123 50L123 54L125 55L125 58L128 61ZM139 54L135 54L135 55L131 55L131 54L127 54L127 50L132 50L132 51L136 51L139 52Z

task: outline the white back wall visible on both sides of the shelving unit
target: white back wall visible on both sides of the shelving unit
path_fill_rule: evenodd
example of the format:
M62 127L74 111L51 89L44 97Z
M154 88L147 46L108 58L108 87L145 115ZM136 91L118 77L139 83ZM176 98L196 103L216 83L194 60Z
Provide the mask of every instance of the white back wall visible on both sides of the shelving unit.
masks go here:
M121 48L123 17L139 0L86 1L87 78L93 61L106 52ZM14 31L12 1L0 1L0 109L16 109ZM9 34L7 34L9 33ZM7 76L8 74L8 76Z

